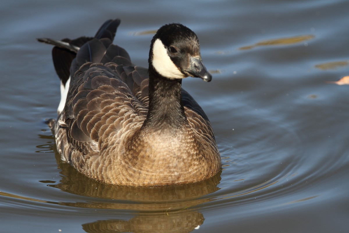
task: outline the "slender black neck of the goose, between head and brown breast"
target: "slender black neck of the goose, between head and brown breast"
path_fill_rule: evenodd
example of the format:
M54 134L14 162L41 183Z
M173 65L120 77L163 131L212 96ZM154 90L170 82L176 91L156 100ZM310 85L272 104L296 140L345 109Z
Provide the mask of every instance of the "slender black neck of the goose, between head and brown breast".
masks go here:
M181 95L181 79L167 79L149 66L149 111L143 126L180 128L187 124Z

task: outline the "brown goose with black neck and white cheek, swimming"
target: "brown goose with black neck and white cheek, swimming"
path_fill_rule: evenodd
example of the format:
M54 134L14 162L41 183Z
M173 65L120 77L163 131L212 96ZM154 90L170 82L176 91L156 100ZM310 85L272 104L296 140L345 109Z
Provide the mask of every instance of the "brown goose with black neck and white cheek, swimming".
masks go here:
M151 40L149 68L135 66L112 44L120 20L94 37L38 38L54 45L61 80L57 151L77 171L104 183L154 186L195 183L221 171L211 124L181 88L186 77L211 81L196 34L179 23Z

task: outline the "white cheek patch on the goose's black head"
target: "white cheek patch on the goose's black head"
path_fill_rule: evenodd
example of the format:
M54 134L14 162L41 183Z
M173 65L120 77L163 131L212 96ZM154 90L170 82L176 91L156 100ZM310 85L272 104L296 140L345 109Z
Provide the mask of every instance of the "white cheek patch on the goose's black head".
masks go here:
M155 70L165 78L183 79L187 77L174 65L160 39L156 39L154 42L152 63Z

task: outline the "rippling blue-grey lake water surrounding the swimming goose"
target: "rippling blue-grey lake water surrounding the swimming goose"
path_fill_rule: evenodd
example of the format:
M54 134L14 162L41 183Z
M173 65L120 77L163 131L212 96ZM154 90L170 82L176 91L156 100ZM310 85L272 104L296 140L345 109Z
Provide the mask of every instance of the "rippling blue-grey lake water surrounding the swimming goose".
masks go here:
M348 232L349 1L23 1L0 14L1 232ZM210 83L183 87L208 115L220 176L191 185L116 187L61 163L51 49L35 38L93 36L147 66L149 31L196 32Z

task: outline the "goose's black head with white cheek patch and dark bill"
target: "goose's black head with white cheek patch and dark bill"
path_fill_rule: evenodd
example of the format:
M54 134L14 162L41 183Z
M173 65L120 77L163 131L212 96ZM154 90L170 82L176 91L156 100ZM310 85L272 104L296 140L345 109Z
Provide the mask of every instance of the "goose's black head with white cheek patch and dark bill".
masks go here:
M212 75L203 65L196 34L179 23L162 26L151 41L149 68L167 79L188 76L211 81Z

